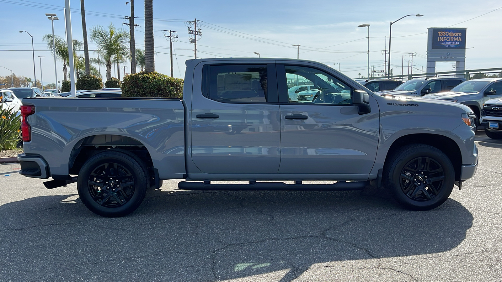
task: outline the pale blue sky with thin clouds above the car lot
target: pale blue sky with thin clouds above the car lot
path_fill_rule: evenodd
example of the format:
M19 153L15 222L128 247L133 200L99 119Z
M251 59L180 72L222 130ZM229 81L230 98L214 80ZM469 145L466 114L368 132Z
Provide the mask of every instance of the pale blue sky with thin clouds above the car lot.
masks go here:
M86 0L86 22L88 33L96 25L116 27L124 22L121 17L130 13L126 0L96 1ZM71 0L73 39L82 39L80 1ZM0 66L7 67L18 75L33 78L33 58L31 39L19 30L26 30L34 36L37 79L40 80L42 58L44 83L54 81L54 61L46 44L45 34L51 33L51 23L45 13L55 13L61 19L55 21L55 33L64 36L64 0L0 0L0 10L4 17L0 50ZM426 66L427 28L454 27L467 28L466 68L499 67L502 54L499 46L500 18L502 9L480 16L502 7L496 1L422 1L420 5L411 1L160 1L154 0L155 51L158 52L156 70L170 74L169 42L162 30L178 31L179 41L174 43L174 75L184 76L184 62L193 58L193 44L188 42L187 26L184 21L197 18L202 21L202 38L198 41L198 57L262 57L296 58L296 47L300 44L300 58L319 61L340 70L351 77L366 73L366 28L360 24L370 24L370 65L375 70L383 69L386 38L389 36L389 22L408 14L424 17L408 17L393 25L392 65L395 74L401 73L402 56L404 72L407 73L408 53L416 52L415 72ZM144 1L135 1L137 48L143 48ZM92 13L98 12L99 14ZM9 17L5 17L9 15ZM469 20L472 19L472 20ZM467 22L464 22L469 20ZM464 22L464 23L461 23ZM456 25L457 23L461 23ZM124 29L128 26L123 26ZM388 40L388 39L387 39ZM387 41L388 44L388 41ZM331 47L328 47L331 46ZM318 49L319 50L315 50ZM324 48L324 49L320 49ZM89 42L89 49L95 45ZM314 50L314 51L313 51ZM167 54L164 54L167 53ZM91 57L96 55L90 52ZM339 63L339 64L334 64ZM130 64L126 72L130 72ZM62 78L62 62L57 62L58 79ZM437 63L437 71L452 69L451 63ZM121 76L123 75L123 69ZM101 68L104 76L104 70ZM0 68L0 75L10 71ZM114 72L112 71L112 76Z

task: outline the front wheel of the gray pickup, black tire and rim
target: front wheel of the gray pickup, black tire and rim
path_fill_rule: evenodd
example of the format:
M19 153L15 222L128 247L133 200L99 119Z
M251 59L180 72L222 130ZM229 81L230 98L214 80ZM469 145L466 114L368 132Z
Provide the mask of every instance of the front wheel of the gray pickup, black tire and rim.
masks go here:
M453 190L455 170L439 149L411 144L398 149L384 166L384 186L410 210L431 210Z

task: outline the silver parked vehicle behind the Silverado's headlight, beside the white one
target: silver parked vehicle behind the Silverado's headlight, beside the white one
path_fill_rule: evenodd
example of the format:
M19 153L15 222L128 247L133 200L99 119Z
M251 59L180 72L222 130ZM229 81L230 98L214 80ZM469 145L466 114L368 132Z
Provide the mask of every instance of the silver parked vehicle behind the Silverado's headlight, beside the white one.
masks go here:
M468 80L455 86L449 92L430 94L424 98L446 100L470 107L476 115L477 125L482 105L490 99L502 98L502 78Z

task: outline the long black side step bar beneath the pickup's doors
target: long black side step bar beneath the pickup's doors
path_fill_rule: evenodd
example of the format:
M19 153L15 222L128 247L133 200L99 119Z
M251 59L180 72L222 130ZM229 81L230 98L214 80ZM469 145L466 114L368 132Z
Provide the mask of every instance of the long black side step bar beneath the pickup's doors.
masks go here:
M250 184L209 184L204 182L181 181L178 183L178 188L183 190L212 191L352 191L362 190L367 185L369 185L369 181L336 182L333 184L286 184L283 182L252 182Z

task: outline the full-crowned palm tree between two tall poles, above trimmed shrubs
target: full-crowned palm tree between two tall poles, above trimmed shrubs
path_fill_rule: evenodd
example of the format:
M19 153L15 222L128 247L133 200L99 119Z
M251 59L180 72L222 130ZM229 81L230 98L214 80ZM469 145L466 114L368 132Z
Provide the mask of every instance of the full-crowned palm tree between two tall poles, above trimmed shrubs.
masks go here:
M108 29L102 26L95 26L91 29L91 39L97 45L97 54L103 58L106 66L106 80L111 78L111 64L115 58L129 58L129 48L126 45L129 33L120 29L117 30L112 23Z

